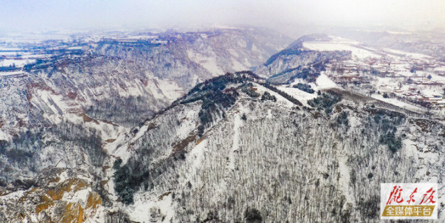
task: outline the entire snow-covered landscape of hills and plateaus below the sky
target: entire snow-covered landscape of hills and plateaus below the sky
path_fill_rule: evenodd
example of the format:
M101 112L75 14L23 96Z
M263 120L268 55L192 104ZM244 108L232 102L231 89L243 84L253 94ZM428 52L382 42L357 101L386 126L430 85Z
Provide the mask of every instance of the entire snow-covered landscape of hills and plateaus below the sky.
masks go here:
M261 28L1 39L0 222L378 222L380 183L442 195L428 52Z

